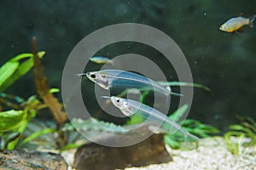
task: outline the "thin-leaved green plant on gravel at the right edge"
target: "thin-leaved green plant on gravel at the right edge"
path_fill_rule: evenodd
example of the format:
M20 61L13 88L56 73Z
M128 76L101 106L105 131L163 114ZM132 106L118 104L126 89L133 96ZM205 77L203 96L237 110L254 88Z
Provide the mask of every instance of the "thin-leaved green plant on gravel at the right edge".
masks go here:
M242 147L256 144L256 122L252 117L237 116L240 124L230 125L230 131L224 134L228 150L234 155L240 155ZM236 137L236 139L232 138Z

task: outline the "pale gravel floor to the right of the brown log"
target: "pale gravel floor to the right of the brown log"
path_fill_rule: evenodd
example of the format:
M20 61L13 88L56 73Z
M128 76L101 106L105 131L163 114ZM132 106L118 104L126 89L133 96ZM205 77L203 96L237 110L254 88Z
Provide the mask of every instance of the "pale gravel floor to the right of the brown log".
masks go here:
M177 170L177 169L256 169L256 146L240 147L239 156L232 155L221 137L200 139L195 150L172 150L168 148L173 161L146 167L127 167L125 170Z

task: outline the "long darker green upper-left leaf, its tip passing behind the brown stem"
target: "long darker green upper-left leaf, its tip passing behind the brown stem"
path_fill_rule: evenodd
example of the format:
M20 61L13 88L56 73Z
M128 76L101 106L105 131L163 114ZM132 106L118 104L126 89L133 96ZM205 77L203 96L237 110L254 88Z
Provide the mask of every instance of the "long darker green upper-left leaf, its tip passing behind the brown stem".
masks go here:
M38 52L39 58L42 58L44 56L44 54L45 54L44 51ZM33 56L33 54L20 54L20 55L17 55L15 58L10 59L10 61L17 63L18 65L17 65L15 71L13 72L13 74L5 82L3 82L2 86L0 83L0 92L3 92L6 88L9 88L10 85L12 85L20 77L25 75L26 72L30 71L30 69L34 65L32 56ZM26 59L19 65L19 63L18 63L19 59L25 59L28 57L30 57L30 59ZM0 76L1 76L1 74L0 74Z

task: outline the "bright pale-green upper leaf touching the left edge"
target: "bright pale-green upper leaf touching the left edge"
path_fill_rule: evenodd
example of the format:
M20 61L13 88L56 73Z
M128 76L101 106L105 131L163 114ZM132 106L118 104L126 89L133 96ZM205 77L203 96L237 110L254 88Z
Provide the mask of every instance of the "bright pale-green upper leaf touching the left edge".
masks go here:
M14 74L18 66L18 62L9 61L0 68L0 91L2 90L3 83L6 82L12 74Z

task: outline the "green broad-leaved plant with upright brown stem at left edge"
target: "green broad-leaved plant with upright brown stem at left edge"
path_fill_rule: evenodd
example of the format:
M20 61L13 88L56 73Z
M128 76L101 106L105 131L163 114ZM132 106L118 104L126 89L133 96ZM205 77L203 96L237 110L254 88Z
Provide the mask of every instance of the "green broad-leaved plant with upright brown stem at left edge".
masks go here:
M57 149L68 143L68 136L61 130L64 122L67 121L67 114L62 110L62 104L53 95L59 90L49 88L47 78L44 76L44 68L41 65L44 54L44 51L37 51L36 39L33 38L32 54L19 54L9 59L0 68L0 150L13 150L47 133L54 133ZM21 99L13 94L3 93L16 80L32 70L32 67L38 95L32 95L29 99ZM55 118L55 128L45 127L37 132L24 135L28 123L39 110L46 107ZM2 111L3 109L7 111Z

